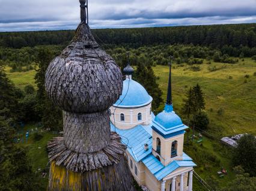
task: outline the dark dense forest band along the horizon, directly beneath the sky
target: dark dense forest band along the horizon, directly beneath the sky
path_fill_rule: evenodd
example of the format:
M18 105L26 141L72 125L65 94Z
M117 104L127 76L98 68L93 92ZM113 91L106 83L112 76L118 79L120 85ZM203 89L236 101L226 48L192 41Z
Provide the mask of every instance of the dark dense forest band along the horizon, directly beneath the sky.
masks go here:
M2 32L0 47L21 48L37 45L67 44L74 31ZM230 56L253 56L256 47L256 24L175 26L162 28L93 29L99 43L114 48L138 48L159 44L193 44L226 51ZM243 50L246 49L246 50Z

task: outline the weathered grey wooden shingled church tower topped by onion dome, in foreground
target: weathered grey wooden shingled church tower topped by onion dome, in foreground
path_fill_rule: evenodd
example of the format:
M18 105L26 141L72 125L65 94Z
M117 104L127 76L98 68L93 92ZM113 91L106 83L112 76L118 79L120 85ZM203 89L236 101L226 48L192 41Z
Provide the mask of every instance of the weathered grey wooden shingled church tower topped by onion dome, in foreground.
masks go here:
M108 179L104 175L106 172L111 176L121 177L118 168L122 168L121 171L124 172L121 173L124 175L130 173L124 166L123 153L126 147L120 143L119 135L111 132L108 113L108 108L121 95L122 74L115 60L94 40L87 23L87 2L80 0L80 3L81 23L76 29L75 37L69 46L50 62L45 75L47 95L63 110L64 130L63 137L57 137L48 144L49 159L53 165L50 170L49 188L61 190L56 187L63 186L63 177L55 175L53 168L62 166L67 171L83 173L82 176L87 177L86 180L80 178L77 181L79 185L82 184L81 181L88 181L87 190L97 187L106 190L124 187L126 190L126 186L132 185L131 177L128 178L130 183L124 181L124 186L123 180L118 181L118 178L114 183L106 182ZM110 168L111 165L114 166ZM94 172L96 169L101 169L101 172ZM97 180L97 177L101 179ZM69 174L66 178L69 180ZM105 184L98 185L98 181ZM71 184L69 186L72 187ZM84 189L81 187L81 190Z

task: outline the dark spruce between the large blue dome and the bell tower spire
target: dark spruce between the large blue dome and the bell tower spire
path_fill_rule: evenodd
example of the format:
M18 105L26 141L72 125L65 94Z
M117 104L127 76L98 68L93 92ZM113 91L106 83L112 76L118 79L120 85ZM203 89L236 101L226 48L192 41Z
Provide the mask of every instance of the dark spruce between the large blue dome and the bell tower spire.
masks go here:
M159 105L163 102L162 90L156 82L156 75L150 65L145 66L140 62L135 71L134 78L145 87L147 92L152 96L152 110L157 111Z

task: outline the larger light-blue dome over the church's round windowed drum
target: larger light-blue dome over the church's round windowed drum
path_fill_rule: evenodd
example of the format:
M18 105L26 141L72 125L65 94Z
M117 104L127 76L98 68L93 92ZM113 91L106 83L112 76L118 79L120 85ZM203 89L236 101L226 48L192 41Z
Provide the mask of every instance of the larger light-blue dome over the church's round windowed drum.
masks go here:
M129 86L129 89L128 89ZM128 89L128 92L127 92ZM125 97L124 97L125 96ZM150 104L152 97L141 84L127 78L123 81L123 92L114 106L118 107L141 107Z

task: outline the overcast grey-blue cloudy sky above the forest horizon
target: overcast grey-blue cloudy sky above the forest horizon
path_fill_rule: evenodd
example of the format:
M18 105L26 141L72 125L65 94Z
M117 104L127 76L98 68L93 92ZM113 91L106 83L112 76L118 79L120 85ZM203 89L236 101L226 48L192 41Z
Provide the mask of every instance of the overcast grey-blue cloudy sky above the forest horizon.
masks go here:
M75 29L79 0L0 0L0 31ZM91 28L255 23L256 0L90 0Z

